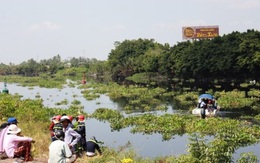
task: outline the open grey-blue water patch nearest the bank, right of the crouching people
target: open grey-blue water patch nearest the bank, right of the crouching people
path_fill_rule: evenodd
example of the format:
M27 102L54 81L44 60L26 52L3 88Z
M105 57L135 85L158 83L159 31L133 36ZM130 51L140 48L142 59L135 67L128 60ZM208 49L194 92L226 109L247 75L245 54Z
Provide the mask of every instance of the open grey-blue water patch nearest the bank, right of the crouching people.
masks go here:
M140 133L131 134L131 128L118 131L111 131L109 124L95 119L89 119L87 124L87 137L96 136L100 141L104 141L106 146L119 147L128 142L138 154L143 157L156 157L167 155L179 155L187 153L188 136L175 136L169 141L162 141L162 135L143 135Z

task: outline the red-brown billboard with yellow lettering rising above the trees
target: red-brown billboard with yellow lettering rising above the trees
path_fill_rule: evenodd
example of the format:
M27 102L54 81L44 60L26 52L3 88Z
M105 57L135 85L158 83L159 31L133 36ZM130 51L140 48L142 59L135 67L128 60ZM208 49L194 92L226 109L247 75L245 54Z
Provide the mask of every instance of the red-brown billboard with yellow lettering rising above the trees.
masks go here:
M183 39L214 38L219 36L218 26L187 26L182 27Z

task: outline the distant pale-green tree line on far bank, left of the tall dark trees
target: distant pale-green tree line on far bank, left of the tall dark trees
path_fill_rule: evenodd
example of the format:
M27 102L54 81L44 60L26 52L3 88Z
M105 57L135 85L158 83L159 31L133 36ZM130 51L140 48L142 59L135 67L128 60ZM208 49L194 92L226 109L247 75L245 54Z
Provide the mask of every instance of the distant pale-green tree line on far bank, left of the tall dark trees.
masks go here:
M0 64L0 75L21 75L25 77L34 77L39 76L41 74L49 74L55 75L59 71L68 70L66 75L73 76L75 72L71 72L73 70L77 71L75 68L81 68L84 72L93 72L98 73L102 72L103 66L106 65L105 61L99 61L95 58L71 58L67 60L62 60L60 55L56 55L50 59L44 59L37 62L34 59L29 59L24 61L18 65L13 63L9 64ZM70 71L69 71L70 70Z

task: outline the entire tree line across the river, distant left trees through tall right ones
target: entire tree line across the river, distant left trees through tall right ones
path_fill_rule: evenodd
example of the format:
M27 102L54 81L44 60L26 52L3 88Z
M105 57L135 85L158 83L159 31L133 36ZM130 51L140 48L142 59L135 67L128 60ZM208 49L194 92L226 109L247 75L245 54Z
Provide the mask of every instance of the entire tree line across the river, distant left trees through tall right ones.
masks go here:
M232 32L214 39L178 42L173 46L154 39L124 40L115 42L106 61L75 57L62 60L57 55L40 62L30 59L18 65L1 63L0 74L38 76L73 67L82 67L92 74L109 74L117 82L137 74L198 82L259 80L260 32Z

